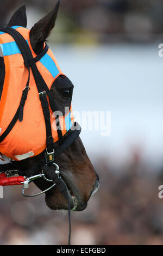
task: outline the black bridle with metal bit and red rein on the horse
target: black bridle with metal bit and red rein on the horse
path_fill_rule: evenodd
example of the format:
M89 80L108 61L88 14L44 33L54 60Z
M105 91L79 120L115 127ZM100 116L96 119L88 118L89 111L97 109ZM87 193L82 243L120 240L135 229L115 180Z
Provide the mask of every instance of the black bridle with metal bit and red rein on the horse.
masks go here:
M70 135L68 135L68 137L65 138L65 136L62 136L59 118L58 118L58 121L55 119L56 125L58 127L57 132L58 132L58 138L59 138L59 146L57 148L55 147L54 139L52 137L49 106L51 107L53 112L57 111L57 107L55 105L55 101L51 91L47 87L47 84L43 80L43 77L36 66L36 62L38 62L47 53L48 46L46 45L45 48L42 50L42 52L37 57L34 58L32 55L32 52L30 51L29 45L27 44L26 40L18 31L16 31L14 28L7 28L2 30L2 32L10 34L12 38L14 38L18 48L20 49L22 57L24 59L24 65L28 69L28 81L27 81L26 87L23 89L23 92L22 92L20 106L18 106L18 109L14 115L14 118L10 121L9 126L0 136L0 143L5 139L5 137L8 136L8 134L10 133L10 131L12 130L16 122L18 120L20 122L23 120L23 109L24 109L24 105L26 104L28 92L30 90L29 80L30 80L30 69L31 69L34 76L35 83L36 83L36 87L39 93L39 98L41 101L42 111L45 119L46 150L45 150L45 157L41 159L39 162L37 162L34 167L27 170L23 170L23 171L21 170L21 162L11 161L8 164L0 164L0 172L2 173L0 174L0 185L2 186L24 185L22 189L22 194L25 197L39 196L39 194L45 193L48 190L51 190L54 186L57 186L59 191L63 194L63 196L67 200L68 217L69 217L69 223L70 223L70 202L68 198L68 188L65 182L61 179L61 176L59 175L60 174L59 167L57 166L56 163L54 163L54 159L56 156L61 154L66 148L70 147L70 145L74 142L74 140L79 136L81 128L77 123L74 123L73 127L71 128ZM48 97L49 103L48 103L47 97ZM55 167L55 170L51 168L52 166ZM11 170L17 170L17 172L13 172ZM40 170L41 170L41 173L37 174L38 172L40 172ZM20 176L12 177L15 174L18 174ZM47 190L37 194L33 194L33 195L25 194L24 190L28 188L29 183L34 179L38 179L38 178L43 178L47 182L53 182L53 185L49 186ZM71 235L71 223L70 223L70 234L68 239L69 245L70 245L70 235Z

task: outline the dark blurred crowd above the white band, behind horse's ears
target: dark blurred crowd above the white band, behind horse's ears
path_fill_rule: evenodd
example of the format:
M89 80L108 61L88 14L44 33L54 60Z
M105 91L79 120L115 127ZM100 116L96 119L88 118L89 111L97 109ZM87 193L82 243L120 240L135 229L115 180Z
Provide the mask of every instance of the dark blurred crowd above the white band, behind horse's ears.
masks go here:
M52 10L55 1L1 1L0 23L7 22L22 4L43 15ZM161 0L61 0L57 26L64 37L58 40L82 41L86 34L86 42L153 41L162 38L162 13Z

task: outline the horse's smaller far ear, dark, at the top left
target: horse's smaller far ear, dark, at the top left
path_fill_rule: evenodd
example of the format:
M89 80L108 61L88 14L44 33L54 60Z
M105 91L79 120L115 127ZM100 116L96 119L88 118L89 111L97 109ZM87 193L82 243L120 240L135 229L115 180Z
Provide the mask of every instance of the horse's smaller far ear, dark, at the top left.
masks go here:
M8 28L12 26L27 27L26 5L22 5L11 17Z

